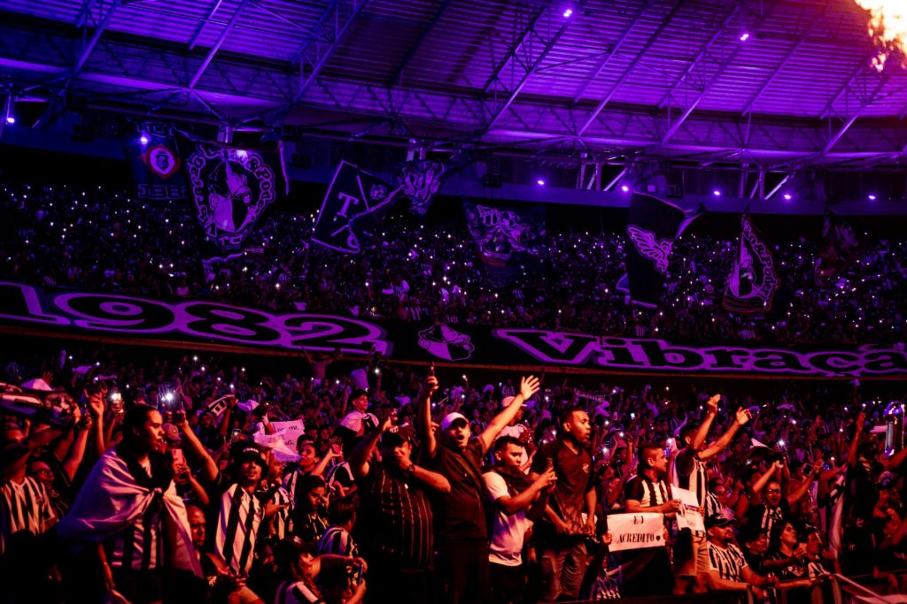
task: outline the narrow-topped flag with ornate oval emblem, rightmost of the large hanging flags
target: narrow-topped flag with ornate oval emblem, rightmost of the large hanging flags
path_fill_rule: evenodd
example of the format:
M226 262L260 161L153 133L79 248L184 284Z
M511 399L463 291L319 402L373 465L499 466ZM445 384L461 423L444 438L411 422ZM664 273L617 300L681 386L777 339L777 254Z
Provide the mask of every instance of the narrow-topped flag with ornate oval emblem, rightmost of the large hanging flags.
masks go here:
M772 254L759 241L749 212L740 219L740 243L727 275L722 305L728 311L768 312L778 289Z

